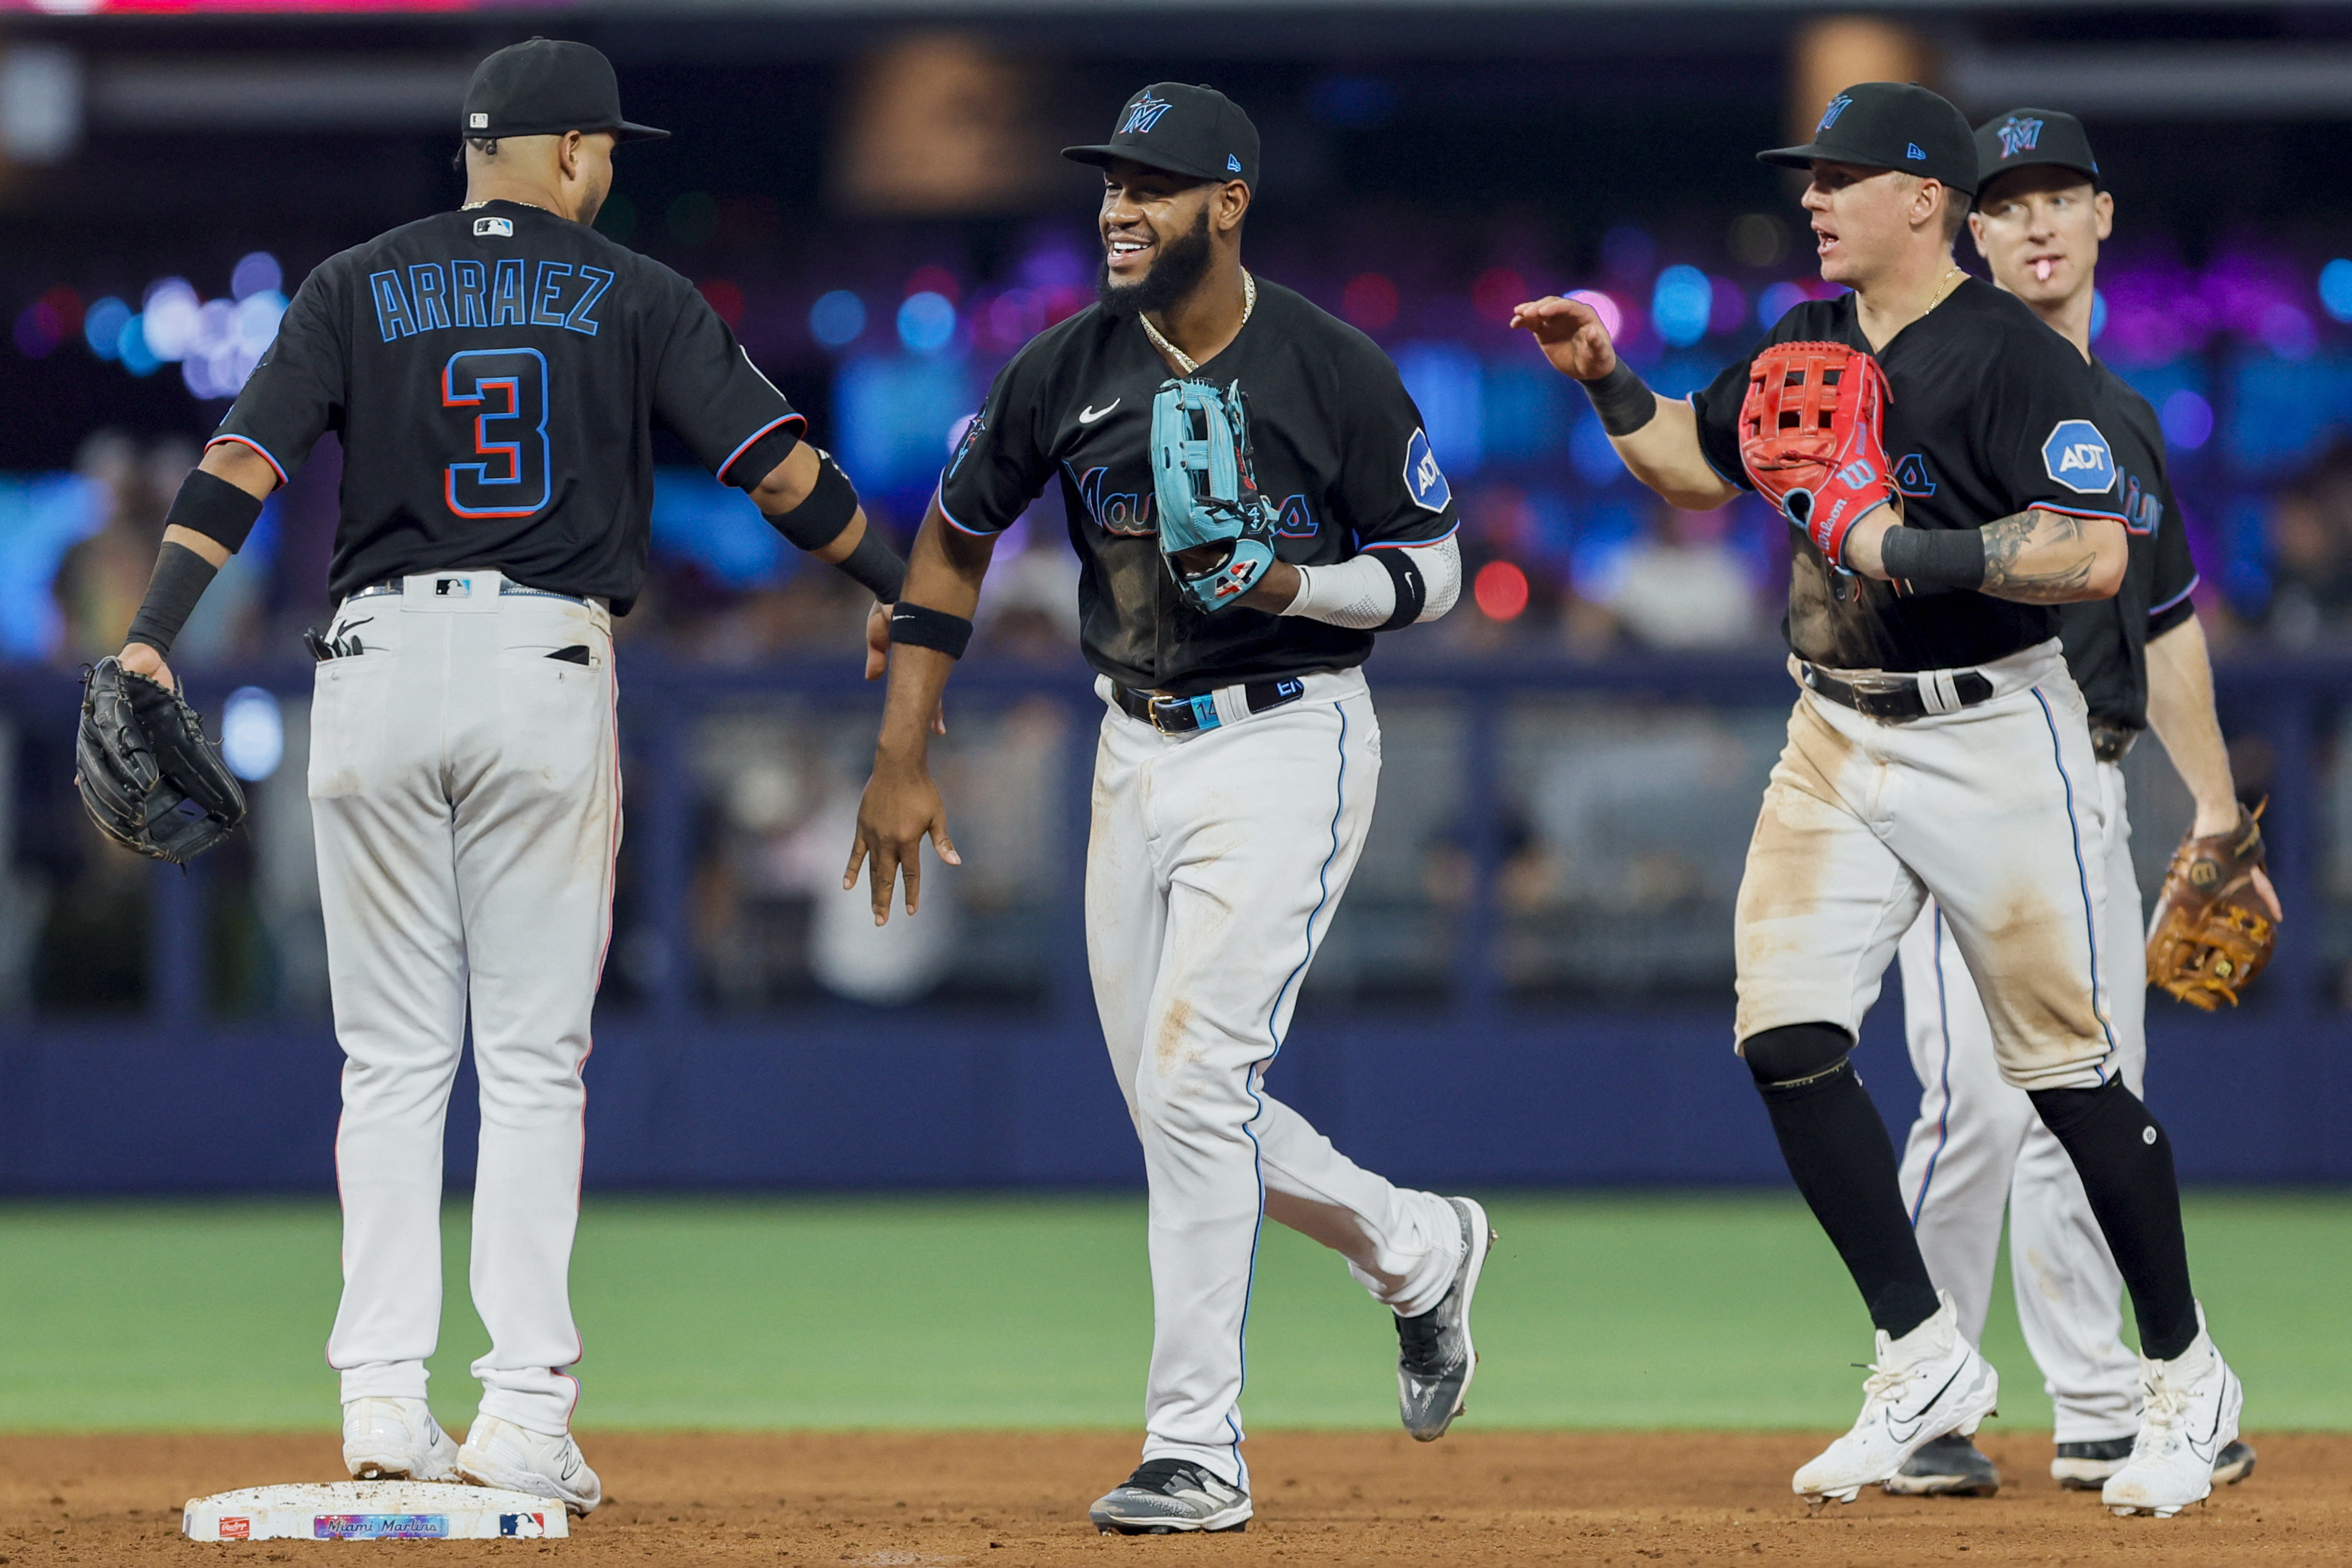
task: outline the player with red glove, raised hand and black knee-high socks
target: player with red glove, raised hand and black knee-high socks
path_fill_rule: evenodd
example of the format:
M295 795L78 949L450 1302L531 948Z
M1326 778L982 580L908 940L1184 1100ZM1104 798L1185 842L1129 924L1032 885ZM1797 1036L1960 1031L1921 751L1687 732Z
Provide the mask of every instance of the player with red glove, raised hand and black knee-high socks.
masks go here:
M2190 1291L2171 1145L2122 1079L2098 961L2105 804L2053 609L2112 597L2129 557L2098 381L2025 303L1952 266L1976 143L1936 94L1849 87L1811 143L1759 158L1809 169L1820 275L1851 294L1790 310L1752 364L1668 402L1588 306L1515 320L1585 383L1635 477L1691 508L1762 489L1797 527L1802 691L1740 884L1736 1039L1877 1356L1853 1429L1795 1490L1851 1502L1999 1399L1846 1060L1936 898L2002 1077L2065 1147L2131 1286L2145 1399L2103 1495L2173 1514L2211 1490L2241 1394Z

